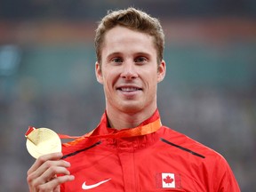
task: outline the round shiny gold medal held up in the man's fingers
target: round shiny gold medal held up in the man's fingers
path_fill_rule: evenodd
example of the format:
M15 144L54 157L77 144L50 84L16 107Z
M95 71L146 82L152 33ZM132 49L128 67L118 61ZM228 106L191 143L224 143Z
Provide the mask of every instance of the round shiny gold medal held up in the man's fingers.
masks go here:
M50 153L61 152L61 140L56 132L48 128L29 127L25 137L27 138L28 153L38 158Z

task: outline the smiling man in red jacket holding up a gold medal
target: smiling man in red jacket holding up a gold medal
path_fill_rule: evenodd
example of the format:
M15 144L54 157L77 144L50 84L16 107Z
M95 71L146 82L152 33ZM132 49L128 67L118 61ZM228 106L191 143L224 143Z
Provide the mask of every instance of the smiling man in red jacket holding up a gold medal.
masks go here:
M109 12L95 47L106 111L91 133L36 160L28 170L30 191L240 191L220 154L161 124L158 20L134 8Z

